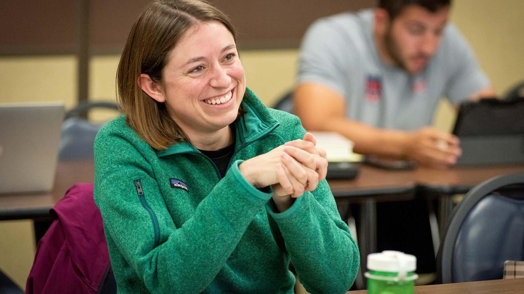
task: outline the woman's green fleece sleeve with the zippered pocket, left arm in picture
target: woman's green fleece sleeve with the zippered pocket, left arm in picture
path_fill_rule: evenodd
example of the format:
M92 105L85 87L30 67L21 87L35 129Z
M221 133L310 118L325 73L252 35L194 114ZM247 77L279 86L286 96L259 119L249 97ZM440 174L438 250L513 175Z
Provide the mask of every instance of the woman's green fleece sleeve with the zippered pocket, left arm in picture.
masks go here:
M151 293L203 291L272 194L250 185L238 171L242 162L238 160L178 228L170 215L178 212L168 211L145 158L135 150L126 155L124 164L126 160L119 159L124 155L119 154L130 151L116 145L113 149L119 150L113 152L114 160L121 161L119 167L100 177L95 173L94 191L108 244L116 246L121 262L132 268ZM106 169L107 160L95 160L95 170Z

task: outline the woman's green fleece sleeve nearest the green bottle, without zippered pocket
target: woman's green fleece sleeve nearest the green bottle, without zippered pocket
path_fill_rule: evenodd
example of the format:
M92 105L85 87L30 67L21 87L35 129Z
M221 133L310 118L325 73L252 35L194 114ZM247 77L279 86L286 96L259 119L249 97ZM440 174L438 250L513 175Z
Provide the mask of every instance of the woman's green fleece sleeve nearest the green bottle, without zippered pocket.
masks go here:
M305 131L296 126L301 138ZM266 205L275 219L300 282L310 293L345 293L358 272L360 256L345 222L336 209L326 180L305 192L282 213Z

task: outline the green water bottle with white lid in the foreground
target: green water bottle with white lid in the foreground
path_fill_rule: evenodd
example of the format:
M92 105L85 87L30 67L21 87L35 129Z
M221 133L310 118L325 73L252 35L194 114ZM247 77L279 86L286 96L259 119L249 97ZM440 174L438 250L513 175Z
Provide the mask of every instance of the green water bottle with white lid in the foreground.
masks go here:
M413 294L417 257L386 250L367 256L368 294Z

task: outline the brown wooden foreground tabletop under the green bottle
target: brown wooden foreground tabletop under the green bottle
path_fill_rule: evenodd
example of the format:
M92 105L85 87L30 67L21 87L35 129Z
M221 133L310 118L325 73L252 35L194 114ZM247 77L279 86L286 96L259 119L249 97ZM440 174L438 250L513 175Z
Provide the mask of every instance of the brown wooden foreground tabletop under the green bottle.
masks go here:
M346 294L365 294L367 290L348 291ZM455 284L416 286L414 294L522 294L524 278L489 280Z

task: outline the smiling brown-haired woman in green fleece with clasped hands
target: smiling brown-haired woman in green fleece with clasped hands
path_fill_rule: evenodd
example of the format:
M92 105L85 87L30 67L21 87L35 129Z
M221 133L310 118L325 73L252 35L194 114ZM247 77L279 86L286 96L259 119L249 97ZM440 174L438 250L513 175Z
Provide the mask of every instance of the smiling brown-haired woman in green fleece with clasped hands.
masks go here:
M325 150L246 88L235 30L198 0L151 2L95 140L94 198L119 293L344 293L358 249Z

